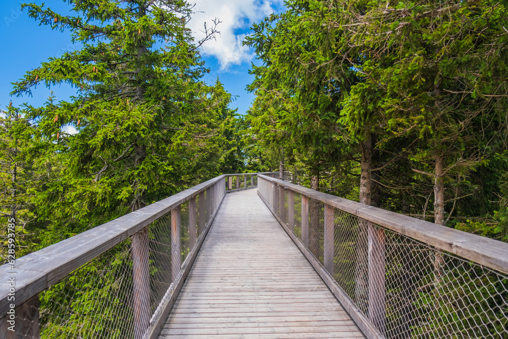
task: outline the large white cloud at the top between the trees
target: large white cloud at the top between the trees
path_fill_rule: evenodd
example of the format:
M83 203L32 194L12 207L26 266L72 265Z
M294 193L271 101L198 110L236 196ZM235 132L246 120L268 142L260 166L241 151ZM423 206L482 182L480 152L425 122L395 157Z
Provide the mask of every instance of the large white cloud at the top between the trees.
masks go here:
M190 2L192 3L192 1ZM244 61L252 60L254 54L247 46L242 46L244 33L252 22L259 22L265 16L270 15L274 8L282 5L282 0L198 0L193 19L188 27L195 33L196 40L204 37L201 32L204 22L207 27L214 18L221 22L217 29L216 41L206 42L202 47L202 54L214 56L219 61L220 70L227 70L231 65L240 65ZM242 34L235 34L238 31Z

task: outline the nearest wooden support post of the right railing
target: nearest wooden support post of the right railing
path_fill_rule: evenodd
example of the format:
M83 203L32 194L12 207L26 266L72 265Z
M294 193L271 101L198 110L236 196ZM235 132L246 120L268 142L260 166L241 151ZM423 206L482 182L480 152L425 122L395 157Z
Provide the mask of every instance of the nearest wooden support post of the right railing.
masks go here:
M368 223L368 241L369 319L385 334L385 230Z

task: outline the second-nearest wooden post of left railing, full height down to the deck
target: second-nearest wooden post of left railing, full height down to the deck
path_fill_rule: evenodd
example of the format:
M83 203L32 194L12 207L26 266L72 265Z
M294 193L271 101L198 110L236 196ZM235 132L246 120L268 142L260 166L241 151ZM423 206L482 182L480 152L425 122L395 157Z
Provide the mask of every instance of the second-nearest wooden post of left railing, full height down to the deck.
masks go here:
M173 235L173 232L171 232ZM133 260L133 311L134 311L134 338L141 339L148 329L149 321L149 298L150 276L148 274L149 263L148 226L132 236L132 260Z

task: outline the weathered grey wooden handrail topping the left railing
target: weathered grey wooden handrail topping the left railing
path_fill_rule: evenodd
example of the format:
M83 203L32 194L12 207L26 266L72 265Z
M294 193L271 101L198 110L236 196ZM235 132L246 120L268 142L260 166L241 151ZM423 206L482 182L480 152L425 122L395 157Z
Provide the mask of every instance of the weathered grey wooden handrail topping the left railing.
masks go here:
M49 288L70 272L131 237L175 206L195 197L201 190L224 178L225 175L220 175L89 231L16 259L18 272L16 302L23 303ZM8 272L10 272L8 265L0 266L0 276L7 276ZM8 286L0 284L0 316L6 314L9 309L8 294Z

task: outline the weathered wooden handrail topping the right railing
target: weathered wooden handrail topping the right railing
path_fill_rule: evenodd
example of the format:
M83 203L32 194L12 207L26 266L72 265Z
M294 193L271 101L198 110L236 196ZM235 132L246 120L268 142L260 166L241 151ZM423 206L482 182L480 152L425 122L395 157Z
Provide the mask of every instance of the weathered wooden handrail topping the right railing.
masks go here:
M261 178L281 184L302 195L322 201L392 231L425 242L439 250L451 252L467 260L508 274L508 243L317 192L266 175L258 175L258 180Z

